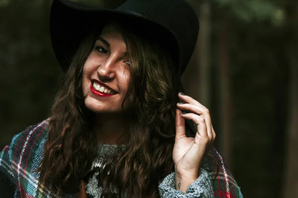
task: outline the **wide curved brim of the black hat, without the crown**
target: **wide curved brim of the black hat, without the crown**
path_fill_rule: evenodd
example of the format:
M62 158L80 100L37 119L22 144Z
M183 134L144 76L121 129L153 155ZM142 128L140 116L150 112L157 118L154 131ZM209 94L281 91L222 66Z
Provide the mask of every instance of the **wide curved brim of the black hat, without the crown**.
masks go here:
M72 56L94 25L102 29L110 18L126 18L149 34L157 35L169 46L170 54L180 64L180 46L175 35L162 25L131 11L95 8L73 1L54 0L50 14L52 47L61 68L66 71ZM102 20L101 20L102 19Z

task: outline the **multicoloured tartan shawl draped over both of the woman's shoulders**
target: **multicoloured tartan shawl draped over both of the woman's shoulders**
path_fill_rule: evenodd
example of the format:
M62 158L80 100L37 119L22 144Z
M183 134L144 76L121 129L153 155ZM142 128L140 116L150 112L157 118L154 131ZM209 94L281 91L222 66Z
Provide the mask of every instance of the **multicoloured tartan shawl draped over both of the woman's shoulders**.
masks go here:
M30 126L15 135L11 144L0 152L0 171L16 184L14 198L76 197L63 193L55 195L39 182L39 173L35 170L43 157L48 130L48 119ZM240 188L224 164L223 157L215 148L211 148L202 168L211 176L215 198L243 198Z

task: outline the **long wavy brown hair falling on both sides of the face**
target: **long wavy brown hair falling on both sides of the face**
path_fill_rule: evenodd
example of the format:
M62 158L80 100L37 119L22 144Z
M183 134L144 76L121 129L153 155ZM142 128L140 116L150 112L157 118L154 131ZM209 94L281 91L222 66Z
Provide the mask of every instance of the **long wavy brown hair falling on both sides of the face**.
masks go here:
M121 30L131 62L128 93L131 121L124 149L104 160L99 186L102 197L112 197L110 184L120 197L159 197L158 184L174 171L172 151L178 82L175 59L158 35L146 33L124 21ZM53 192L75 192L90 171L95 157L94 114L86 109L82 93L82 69L94 47L98 31L85 38L63 77L49 121L49 136L39 168L41 180Z

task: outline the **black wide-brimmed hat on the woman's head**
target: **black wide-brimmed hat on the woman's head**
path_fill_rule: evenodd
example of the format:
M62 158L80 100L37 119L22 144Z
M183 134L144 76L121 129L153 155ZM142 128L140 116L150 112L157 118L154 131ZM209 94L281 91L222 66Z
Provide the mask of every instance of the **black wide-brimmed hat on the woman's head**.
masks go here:
M109 18L126 18L159 36L177 61L180 77L193 53L199 20L186 0L127 0L116 9L92 7L70 0L53 0L50 34L55 56L66 71L72 56L92 26L99 30Z

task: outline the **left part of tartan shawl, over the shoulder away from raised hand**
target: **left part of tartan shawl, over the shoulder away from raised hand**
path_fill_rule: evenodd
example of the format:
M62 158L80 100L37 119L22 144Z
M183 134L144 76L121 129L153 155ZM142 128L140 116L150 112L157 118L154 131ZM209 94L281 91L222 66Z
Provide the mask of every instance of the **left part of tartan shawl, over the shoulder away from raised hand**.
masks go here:
M0 171L16 184L14 198L61 198L45 188L35 172L43 157L47 131L48 120L30 126L15 135L0 153Z

